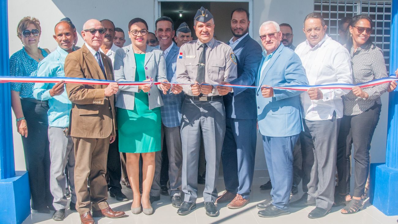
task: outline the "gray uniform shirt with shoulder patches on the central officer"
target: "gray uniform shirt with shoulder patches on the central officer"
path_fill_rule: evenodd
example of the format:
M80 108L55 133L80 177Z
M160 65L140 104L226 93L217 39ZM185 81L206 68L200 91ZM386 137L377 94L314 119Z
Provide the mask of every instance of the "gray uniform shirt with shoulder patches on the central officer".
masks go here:
M205 83L219 84L222 81L230 83L237 77L236 57L229 45L216 41L214 38L207 42ZM199 57L203 48L199 40L189 41L181 46L177 57L176 76L178 83L195 83L199 64ZM190 85L182 85L183 91L193 96ZM205 96L219 95L215 93Z

